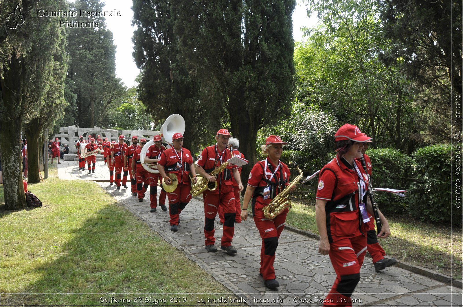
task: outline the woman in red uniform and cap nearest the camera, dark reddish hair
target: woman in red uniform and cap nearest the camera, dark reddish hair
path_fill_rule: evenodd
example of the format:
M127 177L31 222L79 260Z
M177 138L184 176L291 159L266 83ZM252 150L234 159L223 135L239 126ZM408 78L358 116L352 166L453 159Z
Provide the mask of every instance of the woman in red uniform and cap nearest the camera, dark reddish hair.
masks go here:
M373 215L367 197L368 177L357 159L371 138L351 124L339 128L334 138L338 154L320 171L315 203L319 253L330 256L337 275L324 305L352 306L350 296L360 280L367 249L367 211ZM388 221L377 212L382 224L378 237L386 238L390 234Z

